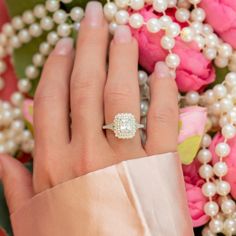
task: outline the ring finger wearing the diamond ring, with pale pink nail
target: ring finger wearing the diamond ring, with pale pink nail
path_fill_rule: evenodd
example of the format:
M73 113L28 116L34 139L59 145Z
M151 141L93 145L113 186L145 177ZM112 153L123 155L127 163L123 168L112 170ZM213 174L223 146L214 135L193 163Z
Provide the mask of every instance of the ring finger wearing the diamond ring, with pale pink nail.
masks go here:
M109 72L105 86L104 104L106 124L113 122L117 113L132 113L140 119L138 85L138 45L128 26L119 26L110 46ZM119 152L137 155L141 142L138 132L134 139L121 140L107 130L110 145Z

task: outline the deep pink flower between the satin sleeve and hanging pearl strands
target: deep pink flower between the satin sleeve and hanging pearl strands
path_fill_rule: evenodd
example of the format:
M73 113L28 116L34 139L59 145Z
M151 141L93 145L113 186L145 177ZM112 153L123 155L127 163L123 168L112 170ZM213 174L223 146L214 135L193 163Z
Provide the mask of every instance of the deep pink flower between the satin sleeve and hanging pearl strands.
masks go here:
M199 166L197 160L191 165L183 166L188 207L194 227L202 226L209 221L209 217L203 211L207 198L202 194L201 186L204 180L198 175Z

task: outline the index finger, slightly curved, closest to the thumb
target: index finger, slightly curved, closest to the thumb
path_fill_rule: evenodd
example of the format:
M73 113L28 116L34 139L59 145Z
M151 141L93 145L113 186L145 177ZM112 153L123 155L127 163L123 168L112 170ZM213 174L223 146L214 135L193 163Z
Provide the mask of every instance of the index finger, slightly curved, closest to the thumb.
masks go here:
M34 100L36 146L57 147L69 142L69 80L73 55L72 39L61 39L44 65Z

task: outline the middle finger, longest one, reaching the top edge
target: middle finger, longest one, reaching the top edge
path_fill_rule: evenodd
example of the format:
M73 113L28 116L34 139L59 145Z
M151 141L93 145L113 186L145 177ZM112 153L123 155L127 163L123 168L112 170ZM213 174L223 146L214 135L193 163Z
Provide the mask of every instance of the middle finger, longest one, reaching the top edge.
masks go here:
M102 5L89 2L79 30L71 79L72 136L76 142L78 137L103 135L107 44L108 25Z

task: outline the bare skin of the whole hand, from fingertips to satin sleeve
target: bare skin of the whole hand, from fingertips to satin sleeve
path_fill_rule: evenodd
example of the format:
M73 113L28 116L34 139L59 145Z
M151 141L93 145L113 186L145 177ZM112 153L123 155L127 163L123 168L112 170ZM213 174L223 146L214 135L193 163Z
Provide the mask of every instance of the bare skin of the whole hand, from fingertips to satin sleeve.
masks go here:
M10 213L70 179L123 160L176 151L178 90L163 63L150 76L146 144L139 132L120 140L102 129L117 113L132 113L140 122L137 77L138 45L128 26L120 26L109 42L102 6L90 2L76 49L70 39L59 41L43 69L34 98L33 174L15 158L0 156Z

